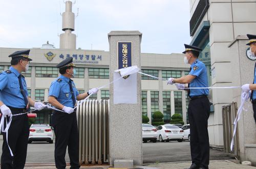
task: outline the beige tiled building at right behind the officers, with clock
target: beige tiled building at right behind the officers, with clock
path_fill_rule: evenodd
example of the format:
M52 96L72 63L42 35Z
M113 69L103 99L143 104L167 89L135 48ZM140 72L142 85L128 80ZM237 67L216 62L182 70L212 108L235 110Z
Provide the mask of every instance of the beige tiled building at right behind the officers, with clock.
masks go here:
M247 58L245 42L246 34L256 34L255 16L255 0L190 0L190 44L203 48L203 54L210 58L212 87L242 86L253 81L255 61ZM244 63L247 66L241 66ZM239 106L240 92L240 89L211 90L214 103L214 112L208 120L211 146L224 146L222 107L232 102ZM256 127L249 106L239 123L238 158L256 164Z

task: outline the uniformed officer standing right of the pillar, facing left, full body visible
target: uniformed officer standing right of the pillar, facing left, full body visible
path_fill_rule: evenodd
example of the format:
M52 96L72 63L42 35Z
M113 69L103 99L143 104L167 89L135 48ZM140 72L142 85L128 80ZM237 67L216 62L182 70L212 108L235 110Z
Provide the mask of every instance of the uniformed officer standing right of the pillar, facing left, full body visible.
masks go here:
M184 88L208 87L207 71L204 63L198 60L202 49L185 45L184 62L190 64L189 74L181 78L168 79L168 84L176 84L179 90ZM188 84L188 85L185 85ZM209 165L209 136L208 118L210 103L207 98L208 89L188 89L189 105L188 120L190 124L190 151L192 164L190 168L208 168Z

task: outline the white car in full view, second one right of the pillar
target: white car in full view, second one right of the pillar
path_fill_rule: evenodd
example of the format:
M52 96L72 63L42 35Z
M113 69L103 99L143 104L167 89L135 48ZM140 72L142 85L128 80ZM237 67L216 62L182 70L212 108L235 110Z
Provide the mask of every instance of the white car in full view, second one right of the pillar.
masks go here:
M158 140L169 142L170 140L183 141L183 130L175 125L161 125L157 127Z

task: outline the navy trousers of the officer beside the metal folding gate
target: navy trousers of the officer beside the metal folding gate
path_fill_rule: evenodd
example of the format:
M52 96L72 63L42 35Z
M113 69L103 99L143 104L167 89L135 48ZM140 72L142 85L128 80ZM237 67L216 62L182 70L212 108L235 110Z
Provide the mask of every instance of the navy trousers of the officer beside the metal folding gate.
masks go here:
M54 111L52 126L55 133L55 165L56 168L66 168L65 155L68 146L70 168L79 168L79 135L76 112Z

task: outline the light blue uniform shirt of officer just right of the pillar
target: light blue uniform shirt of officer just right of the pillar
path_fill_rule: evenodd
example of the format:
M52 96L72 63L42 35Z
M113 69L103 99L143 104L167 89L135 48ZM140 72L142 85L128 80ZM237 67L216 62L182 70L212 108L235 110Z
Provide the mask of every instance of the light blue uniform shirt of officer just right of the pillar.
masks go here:
M190 88L208 88L208 78L207 78L207 70L203 62L197 60L191 66L190 75L197 76L194 78L190 84ZM200 95L208 95L209 89L190 89L190 97L200 96Z

